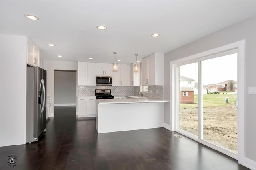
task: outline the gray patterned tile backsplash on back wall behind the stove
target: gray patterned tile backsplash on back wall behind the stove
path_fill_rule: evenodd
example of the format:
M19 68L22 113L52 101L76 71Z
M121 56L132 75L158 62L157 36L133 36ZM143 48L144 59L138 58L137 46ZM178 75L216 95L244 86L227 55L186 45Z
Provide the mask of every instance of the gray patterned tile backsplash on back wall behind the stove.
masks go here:
M133 95L133 86L78 86L78 96L94 96L95 89L111 89L113 96Z

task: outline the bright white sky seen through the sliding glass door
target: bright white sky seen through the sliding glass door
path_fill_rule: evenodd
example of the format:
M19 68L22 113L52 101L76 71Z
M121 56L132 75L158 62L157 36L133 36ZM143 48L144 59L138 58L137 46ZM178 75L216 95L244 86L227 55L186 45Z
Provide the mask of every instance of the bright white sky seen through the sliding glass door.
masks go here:
M198 63L180 66L180 75L198 82ZM217 84L226 80L237 81L237 54L202 61L203 85Z

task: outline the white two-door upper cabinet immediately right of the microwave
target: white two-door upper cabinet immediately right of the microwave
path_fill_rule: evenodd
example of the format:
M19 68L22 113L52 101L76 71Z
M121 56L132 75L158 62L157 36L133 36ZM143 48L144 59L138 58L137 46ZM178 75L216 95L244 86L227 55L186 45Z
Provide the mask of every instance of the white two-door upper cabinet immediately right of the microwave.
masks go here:
M113 86L130 86L130 65L118 64L118 72L112 73Z

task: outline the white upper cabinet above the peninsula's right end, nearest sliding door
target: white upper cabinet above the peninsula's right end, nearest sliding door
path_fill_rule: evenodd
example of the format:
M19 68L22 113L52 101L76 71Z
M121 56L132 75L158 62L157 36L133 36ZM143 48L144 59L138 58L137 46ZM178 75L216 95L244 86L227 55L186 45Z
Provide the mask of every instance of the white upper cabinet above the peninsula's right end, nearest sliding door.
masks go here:
M154 53L142 59L142 85L164 85L164 54Z

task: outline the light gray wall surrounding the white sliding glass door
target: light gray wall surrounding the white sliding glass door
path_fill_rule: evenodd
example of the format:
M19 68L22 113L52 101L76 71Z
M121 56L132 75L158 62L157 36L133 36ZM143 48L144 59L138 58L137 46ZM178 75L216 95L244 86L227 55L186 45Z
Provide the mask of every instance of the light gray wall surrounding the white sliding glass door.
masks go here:
M256 86L256 16L164 54L164 99L170 100L170 61L208 51L245 39L245 156L256 161L256 95L248 94L248 86ZM170 102L165 103L164 122L170 125Z

